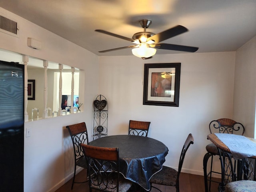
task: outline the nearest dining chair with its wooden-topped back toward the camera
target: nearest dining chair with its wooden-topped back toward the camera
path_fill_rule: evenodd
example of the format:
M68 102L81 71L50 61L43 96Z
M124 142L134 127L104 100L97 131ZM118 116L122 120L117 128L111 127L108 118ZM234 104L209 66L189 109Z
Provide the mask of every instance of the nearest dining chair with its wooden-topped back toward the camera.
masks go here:
M86 158L90 192L126 192L132 186L119 171L118 148L96 147L80 144Z

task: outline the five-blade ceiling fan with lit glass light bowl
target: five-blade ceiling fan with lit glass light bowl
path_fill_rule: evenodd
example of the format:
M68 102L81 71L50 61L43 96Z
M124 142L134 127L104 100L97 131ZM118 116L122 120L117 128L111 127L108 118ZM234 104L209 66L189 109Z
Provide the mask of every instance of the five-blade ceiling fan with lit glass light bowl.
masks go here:
M105 30L97 29L96 32L104 33L110 36L114 36L117 38L121 38L130 42L135 43L136 45L119 47L114 49L108 49L99 51L100 53L115 51L126 48L133 48L132 54L142 59L150 59L154 54L156 54L156 49L166 49L166 50L176 50L176 51L186 51L186 52L196 52L198 47L184 46L184 45L175 45L175 44L167 44L167 43L159 43L166 39L172 38L184 32L187 32L188 29L184 26L177 25L173 28L160 32L158 34L154 34L152 32L146 31L148 26L152 23L151 20L143 19L139 21L142 28L144 28L143 32L135 33L132 38L124 37L118 34L114 34Z

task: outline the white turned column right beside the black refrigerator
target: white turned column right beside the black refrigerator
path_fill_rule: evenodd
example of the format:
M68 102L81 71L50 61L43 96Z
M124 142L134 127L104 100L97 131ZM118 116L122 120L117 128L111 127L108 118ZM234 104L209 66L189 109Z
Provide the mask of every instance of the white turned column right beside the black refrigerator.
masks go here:
M24 121L28 121L28 56L22 56L22 62L24 64Z

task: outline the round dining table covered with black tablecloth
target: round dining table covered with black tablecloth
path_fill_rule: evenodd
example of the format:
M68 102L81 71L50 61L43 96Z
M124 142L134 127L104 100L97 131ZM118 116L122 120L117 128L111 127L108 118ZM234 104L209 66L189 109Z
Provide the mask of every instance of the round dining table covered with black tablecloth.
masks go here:
M150 178L162 169L168 148L162 142L142 136L113 135L89 142L89 145L119 149L120 173L124 178L150 190Z

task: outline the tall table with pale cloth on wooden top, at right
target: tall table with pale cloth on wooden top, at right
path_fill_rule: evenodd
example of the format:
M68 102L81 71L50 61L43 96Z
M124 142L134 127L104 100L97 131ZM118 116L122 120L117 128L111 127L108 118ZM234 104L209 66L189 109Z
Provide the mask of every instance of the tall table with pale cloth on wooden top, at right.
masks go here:
M208 134L207 138L216 145L220 154L220 163L222 170L222 179L220 183L220 190L224 190L226 180L228 182L249 179L243 178L242 174L247 171L247 175L250 176L250 172L254 175L255 180L255 165L256 165L256 139L249 138L236 134L225 134L225 133L213 133ZM248 168L248 158L254 159L254 170ZM228 160L228 161L227 161ZM233 163L234 162L234 163ZM237 166L236 163L237 162ZM247 163L246 163L247 162ZM227 170L230 170L230 175Z

